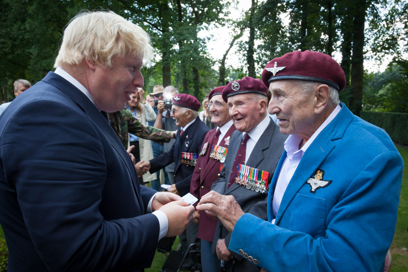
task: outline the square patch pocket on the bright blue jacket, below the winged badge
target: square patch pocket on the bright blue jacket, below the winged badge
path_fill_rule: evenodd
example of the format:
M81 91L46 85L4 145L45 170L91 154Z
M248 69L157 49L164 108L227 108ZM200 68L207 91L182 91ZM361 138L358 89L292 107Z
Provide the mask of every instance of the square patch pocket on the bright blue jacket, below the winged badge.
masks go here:
M289 230L307 233L314 239L324 235L325 199L296 194L292 205Z

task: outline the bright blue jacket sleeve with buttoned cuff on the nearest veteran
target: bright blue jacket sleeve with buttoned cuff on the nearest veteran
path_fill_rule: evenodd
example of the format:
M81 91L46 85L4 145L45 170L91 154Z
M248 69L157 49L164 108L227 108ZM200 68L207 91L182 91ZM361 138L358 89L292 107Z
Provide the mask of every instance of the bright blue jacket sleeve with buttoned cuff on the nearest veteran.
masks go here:
M313 239L246 213L234 227L229 249L242 249L267 271L383 271L395 228L382 222L395 226L402 167L396 151L375 157L329 211L322 237Z

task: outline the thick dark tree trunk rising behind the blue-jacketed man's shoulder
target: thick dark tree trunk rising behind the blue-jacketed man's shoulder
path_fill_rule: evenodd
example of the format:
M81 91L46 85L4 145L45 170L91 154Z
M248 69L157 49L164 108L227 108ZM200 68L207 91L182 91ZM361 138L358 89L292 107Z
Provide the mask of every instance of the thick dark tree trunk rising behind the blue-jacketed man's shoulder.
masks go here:
M363 75L364 75L364 22L366 18L365 0L355 2L354 28L353 28L353 55L351 57L351 88L353 98L350 110L357 116L363 101Z

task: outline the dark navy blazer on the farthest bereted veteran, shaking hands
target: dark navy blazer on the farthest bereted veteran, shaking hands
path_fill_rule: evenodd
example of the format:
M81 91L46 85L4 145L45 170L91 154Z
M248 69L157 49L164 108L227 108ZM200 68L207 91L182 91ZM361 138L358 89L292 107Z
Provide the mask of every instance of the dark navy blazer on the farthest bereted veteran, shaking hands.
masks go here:
M200 153L208 127L198 117L180 136L180 129L176 134L176 141L171 149L150 160L150 173L154 173L174 162L174 184L180 196L190 192L191 177L194 167L181 163L181 152Z

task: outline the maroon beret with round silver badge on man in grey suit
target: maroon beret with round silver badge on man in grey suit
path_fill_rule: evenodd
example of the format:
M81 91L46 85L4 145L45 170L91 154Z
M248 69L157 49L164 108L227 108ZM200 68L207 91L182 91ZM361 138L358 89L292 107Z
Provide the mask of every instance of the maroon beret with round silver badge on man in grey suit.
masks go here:
M225 86L222 91L222 99L227 102L227 98L232 95L256 93L267 95L268 88L261 80L252 77L243 77L241 80L234 80Z

